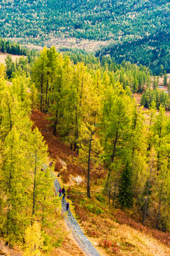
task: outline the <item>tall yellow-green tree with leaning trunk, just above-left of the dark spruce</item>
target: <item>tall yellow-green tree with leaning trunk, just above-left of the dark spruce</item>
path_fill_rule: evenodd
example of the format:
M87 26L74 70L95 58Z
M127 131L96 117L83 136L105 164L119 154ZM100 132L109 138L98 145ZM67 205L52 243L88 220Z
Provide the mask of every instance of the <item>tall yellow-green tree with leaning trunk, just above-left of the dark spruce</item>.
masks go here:
M106 159L109 166L106 188L110 183L112 166L116 158L126 154L126 146L130 139L130 122L132 115L132 102L128 91L117 85L106 88L106 95L103 107L103 122L101 134L103 147L106 150ZM125 107L126 105L126 107Z

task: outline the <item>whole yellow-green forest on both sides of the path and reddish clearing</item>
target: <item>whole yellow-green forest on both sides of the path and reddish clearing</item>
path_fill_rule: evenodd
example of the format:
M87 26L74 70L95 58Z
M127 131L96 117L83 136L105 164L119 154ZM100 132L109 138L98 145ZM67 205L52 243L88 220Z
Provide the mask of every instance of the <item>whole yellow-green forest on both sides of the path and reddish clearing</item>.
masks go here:
M43 251L60 244L60 238L54 242L60 231L52 228L60 203L51 169L42 171L47 146L30 121L37 109L50 120L54 136L76 153L88 198L97 181L113 208L137 210L143 225L170 230L170 119L163 100L156 106L154 97L146 111L132 95L144 88L151 93L149 69L125 61L115 65L111 58L110 65L108 58L99 65L90 57L89 66L74 64L69 56L75 57L44 48L30 63L28 57L16 63L8 57L6 67L0 66L0 233L11 245L23 243L28 255L30 230L33 237L38 233ZM67 180L69 172L63 175Z

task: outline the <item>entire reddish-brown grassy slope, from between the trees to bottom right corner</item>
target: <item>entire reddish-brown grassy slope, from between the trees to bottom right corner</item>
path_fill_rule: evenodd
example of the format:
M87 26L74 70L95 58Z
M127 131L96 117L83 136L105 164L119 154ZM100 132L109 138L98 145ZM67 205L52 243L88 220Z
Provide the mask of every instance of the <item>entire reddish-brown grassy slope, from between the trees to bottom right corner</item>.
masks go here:
M75 152L71 151L68 145L60 142L60 138L52 135L52 128L49 127L50 123L45 119L45 114L33 112L32 120L45 137L50 158L56 162L55 174L62 173L59 178L60 183L65 186L67 195L72 195L69 203L74 216L79 220L84 233L101 255L170 255L170 233L162 233L149 226L144 227L140 224L140 216L137 213L123 212L109 206L108 198L102 194L94 193L90 199L86 198L86 195L77 196L77 193L86 191L86 187L78 186L72 180L72 176L84 177L84 171L77 166ZM60 159L67 163L67 168L64 170ZM102 176L105 176L104 172ZM94 177L94 181L99 178ZM101 187L102 183L93 182L91 189L95 191ZM67 239L64 242L67 244ZM60 248L58 255L62 255L62 250L64 250L64 245Z

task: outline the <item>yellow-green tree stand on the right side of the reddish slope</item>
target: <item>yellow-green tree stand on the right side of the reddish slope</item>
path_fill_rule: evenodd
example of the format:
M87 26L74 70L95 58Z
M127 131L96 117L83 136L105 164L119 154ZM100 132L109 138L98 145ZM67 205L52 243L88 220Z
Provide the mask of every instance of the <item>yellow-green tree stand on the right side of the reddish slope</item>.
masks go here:
M106 60L110 60L111 71ZM148 92L159 93L159 89L150 87L149 70L142 65L115 65L111 59L106 60L103 67L93 70L84 63L74 65L55 48L44 48L31 78L38 88L38 105L43 112L50 112L54 134L77 151L84 176L88 177L89 198L91 171L103 162L108 169L105 191L109 202L112 198L113 204L121 208L130 208L135 202L143 223L150 215L157 228L166 230L169 128L164 97L157 106L159 114L155 115L153 101L145 117L132 92L147 87Z

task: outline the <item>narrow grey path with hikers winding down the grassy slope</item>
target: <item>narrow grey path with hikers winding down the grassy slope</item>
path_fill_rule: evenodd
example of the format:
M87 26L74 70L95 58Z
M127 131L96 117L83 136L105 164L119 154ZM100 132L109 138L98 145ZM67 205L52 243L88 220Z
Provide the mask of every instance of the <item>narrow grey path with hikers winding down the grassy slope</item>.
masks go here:
M42 169L47 169L46 164L42 164ZM52 176L55 176L55 174L52 173ZM55 190L58 194L58 191L60 190L61 186L57 178L55 177L54 181ZM62 200L62 210L66 212L66 203L67 201L64 199ZM86 253L88 256L100 256L94 245L89 241L89 239L84 235L83 230L81 230L79 224L77 223L77 220L72 215L71 211L68 210L67 218L65 218L67 225L69 228L72 228L74 230L74 238L77 240L79 246L81 249Z

